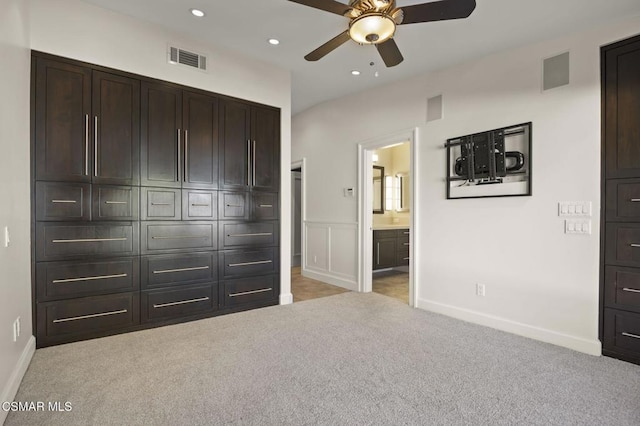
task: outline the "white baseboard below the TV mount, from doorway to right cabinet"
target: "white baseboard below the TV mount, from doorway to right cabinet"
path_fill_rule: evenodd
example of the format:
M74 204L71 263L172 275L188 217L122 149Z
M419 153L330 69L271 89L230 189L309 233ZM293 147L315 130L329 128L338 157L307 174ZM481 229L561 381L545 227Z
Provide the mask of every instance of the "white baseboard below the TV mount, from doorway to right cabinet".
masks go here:
M426 311L447 315L474 324L506 331L507 333L517 334L518 336L528 337L541 342L551 343L552 345L573 349L588 355L602 355L602 343L599 340L589 340L582 337L558 333L557 331L534 327L505 318L425 299L418 299L417 307Z

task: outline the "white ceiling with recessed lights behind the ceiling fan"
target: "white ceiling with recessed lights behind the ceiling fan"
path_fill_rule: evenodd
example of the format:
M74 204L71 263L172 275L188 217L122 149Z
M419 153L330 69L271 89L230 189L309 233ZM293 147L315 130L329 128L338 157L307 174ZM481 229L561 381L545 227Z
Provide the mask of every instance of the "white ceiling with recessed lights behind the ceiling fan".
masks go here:
M290 70L294 114L348 93L640 15L638 0L477 0L467 19L398 27L395 40L405 60L386 68L375 47L353 41L318 62L305 61L304 55L346 30L348 19L287 0L84 1ZM426 2L397 0L397 5ZM195 18L190 8L206 16ZM280 45L269 45L271 37ZM354 69L362 74L352 76Z

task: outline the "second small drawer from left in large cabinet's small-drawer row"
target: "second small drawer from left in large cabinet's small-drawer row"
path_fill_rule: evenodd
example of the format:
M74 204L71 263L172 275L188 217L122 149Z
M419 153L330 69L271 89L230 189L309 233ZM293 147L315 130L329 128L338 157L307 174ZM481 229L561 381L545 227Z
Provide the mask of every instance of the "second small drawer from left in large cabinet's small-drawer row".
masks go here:
M93 220L138 220L140 190L132 186L94 186Z

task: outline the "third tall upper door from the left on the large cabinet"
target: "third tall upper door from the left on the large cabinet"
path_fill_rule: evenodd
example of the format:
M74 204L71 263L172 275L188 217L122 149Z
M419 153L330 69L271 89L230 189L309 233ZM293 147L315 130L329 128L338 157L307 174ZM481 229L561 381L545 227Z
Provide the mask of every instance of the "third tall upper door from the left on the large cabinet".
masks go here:
M182 90L142 83L140 174L144 186L182 185Z

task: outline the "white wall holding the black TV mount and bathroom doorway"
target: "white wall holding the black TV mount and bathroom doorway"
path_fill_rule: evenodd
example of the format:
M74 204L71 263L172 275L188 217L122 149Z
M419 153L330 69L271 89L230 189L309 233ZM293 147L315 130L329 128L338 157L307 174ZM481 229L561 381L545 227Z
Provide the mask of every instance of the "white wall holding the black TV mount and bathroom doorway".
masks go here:
M296 115L292 153L307 158L308 215L357 221L357 199L341 193L358 182L357 144L417 127L418 307L599 354L599 49L638 28L638 17L616 22ZM542 93L541 59L567 50L571 84ZM426 100L437 94L444 118L427 124ZM379 106L363 114L363 105ZM447 138L528 121L533 196L445 199ZM563 233L563 200L593 203L592 235ZM352 247L331 255L353 259ZM486 285L486 297L475 295L475 283Z

